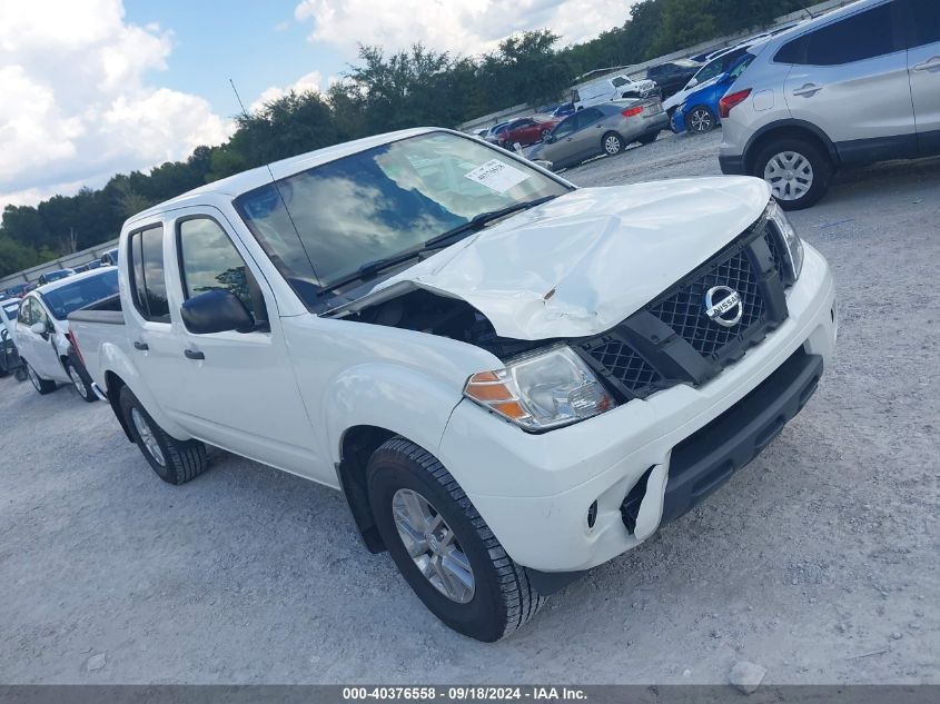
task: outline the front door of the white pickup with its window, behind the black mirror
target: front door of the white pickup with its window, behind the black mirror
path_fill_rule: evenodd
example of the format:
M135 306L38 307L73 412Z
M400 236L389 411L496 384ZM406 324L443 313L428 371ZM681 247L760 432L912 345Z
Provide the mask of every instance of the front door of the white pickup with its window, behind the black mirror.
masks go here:
M253 314L249 331L196 335L181 317L180 423L206 442L298 474L318 466L310 422L287 355L277 307L264 278L236 248L225 217L177 218L172 246L179 262L172 286L181 300L227 289ZM168 271L170 268L168 267ZM179 309L174 311L174 316Z

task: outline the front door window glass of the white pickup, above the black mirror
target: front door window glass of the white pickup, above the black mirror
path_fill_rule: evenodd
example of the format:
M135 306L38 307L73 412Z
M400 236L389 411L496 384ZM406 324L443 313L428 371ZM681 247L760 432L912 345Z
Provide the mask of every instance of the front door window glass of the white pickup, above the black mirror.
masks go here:
M177 241L184 298L228 290L245 304L255 320L268 319L257 279L218 222L208 217L181 220Z

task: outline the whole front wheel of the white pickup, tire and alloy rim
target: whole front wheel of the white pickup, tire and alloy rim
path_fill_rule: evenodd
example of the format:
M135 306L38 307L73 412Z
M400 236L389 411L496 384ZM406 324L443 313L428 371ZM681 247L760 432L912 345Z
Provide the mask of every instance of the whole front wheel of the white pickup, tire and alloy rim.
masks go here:
M376 526L398 571L447 626L492 643L545 603L433 455L394 437L369 458L367 483Z

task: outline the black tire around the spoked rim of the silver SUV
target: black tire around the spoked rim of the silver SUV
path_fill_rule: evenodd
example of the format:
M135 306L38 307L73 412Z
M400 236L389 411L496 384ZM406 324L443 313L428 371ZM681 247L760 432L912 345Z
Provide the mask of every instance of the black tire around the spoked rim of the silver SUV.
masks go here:
M783 155L786 159L792 159L793 155L802 157L809 165L810 171L805 170L805 166L800 161L795 161L793 178L796 179L800 175L803 176L802 185L805 186L805 177L811 175L810 188L802 194L794 192L793 181L786 181L784 173L780 178L770 177L768 175L768 166L771 160ZM799 137L785 137L783 139L772 141L766 147L760 150L754 157L751 173L758 178L764 179L773 191L773 197L784 210L802 210L819 202L820 198L829 190L829 184L832 180L832 161L817 145ZM798 181L800 182L800 181Z

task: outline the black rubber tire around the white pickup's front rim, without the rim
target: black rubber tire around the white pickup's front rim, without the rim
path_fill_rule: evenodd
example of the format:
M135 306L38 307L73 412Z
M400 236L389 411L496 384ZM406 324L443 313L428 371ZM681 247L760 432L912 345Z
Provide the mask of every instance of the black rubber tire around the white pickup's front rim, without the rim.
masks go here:
M392 438L369 458L367 483L376 526L402 576L451 628L492 643L516 631L545 603L525 568L506 555L456 479L428 452L402 437ZM393 498L399 489L419 494L453 532L473 571L473 595L466 603L434 586L408 554L393 513Z

